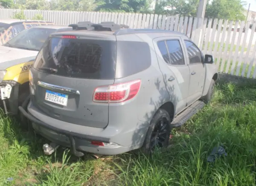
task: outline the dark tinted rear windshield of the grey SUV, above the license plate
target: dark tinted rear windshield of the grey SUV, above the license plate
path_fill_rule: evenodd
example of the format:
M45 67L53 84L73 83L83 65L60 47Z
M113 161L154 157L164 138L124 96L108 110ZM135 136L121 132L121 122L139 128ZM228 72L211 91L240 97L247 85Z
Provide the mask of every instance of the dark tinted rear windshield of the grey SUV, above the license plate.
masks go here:
M116 42L51 38L38 54L34 68L37 70L53 68L57 70L54 74L58 76L114 79Z

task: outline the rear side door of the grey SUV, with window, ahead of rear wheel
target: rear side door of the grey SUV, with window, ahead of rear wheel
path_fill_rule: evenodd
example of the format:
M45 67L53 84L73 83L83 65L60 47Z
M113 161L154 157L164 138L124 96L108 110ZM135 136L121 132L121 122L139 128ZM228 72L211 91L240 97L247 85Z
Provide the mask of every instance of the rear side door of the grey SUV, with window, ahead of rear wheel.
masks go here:
M156 38L154 45L170 101L177 114L186 108L189 90L190 74L184 58L184 48L180 37Z

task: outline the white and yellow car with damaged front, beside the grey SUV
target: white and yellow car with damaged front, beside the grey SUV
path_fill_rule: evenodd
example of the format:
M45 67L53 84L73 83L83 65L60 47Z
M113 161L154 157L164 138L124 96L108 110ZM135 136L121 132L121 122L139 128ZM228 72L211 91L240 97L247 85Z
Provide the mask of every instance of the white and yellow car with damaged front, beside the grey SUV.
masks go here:
M49 35L70 30L68 26L35 26L0 46L0 99L6 113L17 114L29 96L29 69Z

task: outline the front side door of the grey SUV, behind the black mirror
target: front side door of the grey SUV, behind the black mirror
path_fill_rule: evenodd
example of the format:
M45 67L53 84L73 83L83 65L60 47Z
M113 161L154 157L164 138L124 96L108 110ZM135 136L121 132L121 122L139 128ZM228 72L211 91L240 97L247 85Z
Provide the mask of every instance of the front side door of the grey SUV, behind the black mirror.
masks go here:
M186 56L189 61L190 82L187 102L190 105L202 96L206 70L200 49L189 40L184 40L184 45L186 46Z

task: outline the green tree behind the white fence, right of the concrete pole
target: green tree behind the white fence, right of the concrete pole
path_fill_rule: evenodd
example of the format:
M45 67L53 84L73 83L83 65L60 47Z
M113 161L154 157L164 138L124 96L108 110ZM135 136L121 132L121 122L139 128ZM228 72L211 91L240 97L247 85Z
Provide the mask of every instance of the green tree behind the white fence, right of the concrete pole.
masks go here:
M205 15L218 19L244 20L243 5L241 0L212 0L211 4L207 4Z

